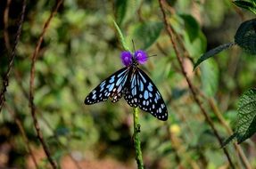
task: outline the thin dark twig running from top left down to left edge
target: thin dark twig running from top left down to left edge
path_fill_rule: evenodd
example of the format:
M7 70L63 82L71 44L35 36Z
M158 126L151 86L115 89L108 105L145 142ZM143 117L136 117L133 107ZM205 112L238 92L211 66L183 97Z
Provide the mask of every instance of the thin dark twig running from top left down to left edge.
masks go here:
M0 93L0 113L1 113L4 101L5 101L4 93L6 93L7 86L9 84L9 76L10 76L10 73L11 73L11 70L12 70L13 60L15 58L16 47L17 47L17 44L20 41L21 29L22 29L22 24L23 24L24 15L25 15L25 9L26 9L26 0L23 0L22 10L21 10L21 20L19 21L19 27L18 27L17 34L16 34L16 37L15 37L14 45L13 45L13 48L12 48L11 58L10 58L10 61L9 61L7 71L4 74L3 87L2 87L2 90L1 90L1 93Z

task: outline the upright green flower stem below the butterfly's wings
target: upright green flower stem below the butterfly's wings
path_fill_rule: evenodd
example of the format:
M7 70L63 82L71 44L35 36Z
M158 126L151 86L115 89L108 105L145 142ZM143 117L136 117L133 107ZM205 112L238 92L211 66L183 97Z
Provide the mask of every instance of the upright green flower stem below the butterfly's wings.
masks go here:
M134 119L133 140L134 140L134 147L136 150L136 164L137 164L138 169L144 169L142 152L141 152L141 148L140 148L140 140L139 140L139 135L138 135L138 133L140 133L140 125L138 123L138 109L137 108L135 108L133 111L133 119Z

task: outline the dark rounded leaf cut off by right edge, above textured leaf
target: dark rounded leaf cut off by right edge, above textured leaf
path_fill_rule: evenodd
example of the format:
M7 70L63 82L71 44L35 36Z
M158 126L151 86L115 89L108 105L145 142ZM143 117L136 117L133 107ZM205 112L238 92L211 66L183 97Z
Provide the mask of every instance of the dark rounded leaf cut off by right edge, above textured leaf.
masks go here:
M256 54L256 19L244 21L235 33L235 44L245 52Z

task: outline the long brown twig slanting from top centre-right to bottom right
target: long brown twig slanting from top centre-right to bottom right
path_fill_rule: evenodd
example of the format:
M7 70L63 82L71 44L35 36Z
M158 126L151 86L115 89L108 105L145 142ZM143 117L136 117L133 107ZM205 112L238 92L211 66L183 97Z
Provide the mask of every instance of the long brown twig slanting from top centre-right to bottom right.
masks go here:
M172 29L169 27L169 23L168 23L168 19L167 19L167 15L166 13L164 12L164 9L163 9L163 0L159 0L159 4L160 4L160 7L161 7L161 12L162 12L162 15L163 15L163 20L164 20L164 24L165 24L165 28L167 30L167 33L169 35L169 39L170 39L170 42L173 46L173 49L176 53L176 57L178 59L178 63L179 63L179 66L182 70L182 74L183 76L186 78L186 82L188 84L188 87L189 87L189 90L190 92L192 93L192 96L194 98L194 101L196 102L196 104L199 106L199 109L201 110L202 112L202 115L205 117L207 123L211 126L211 130L213 131L214 135L216 136L217 140L219 141L219 144L222 145L222 140L219 136L219 133L217 131L217 129L215 128L213 122L211 121L211 117L208 116L207 112L205 109L203 109L202 107L202 104L197 96L197 94L195 93L195 90L194 90L194 84L192 84L192 82L190 81L190 79L188 78L188 76L186 75L186 70L184 68L184 65L183 65L183 61L182 61L182 58L180 57L179 55L179 52L178 52L178 47L177 47L177 44L175 43L174 41L174 37L173 37L173 32L172 32ZM227 152L227 149L223 149L225 155L227 156L227 160L229 162L229 165L232 167L232 168L235 168L235 166L233 165L233 162L231 160L231 157L229 156L228 152Z

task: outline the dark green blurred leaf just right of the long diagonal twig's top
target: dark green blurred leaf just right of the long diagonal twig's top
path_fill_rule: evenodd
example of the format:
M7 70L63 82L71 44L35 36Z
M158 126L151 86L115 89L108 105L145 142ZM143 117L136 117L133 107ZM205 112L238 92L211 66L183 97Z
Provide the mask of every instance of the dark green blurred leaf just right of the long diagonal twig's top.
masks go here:
M194 41L194 39L198 36L200 27L196 20L194 20L194 17L189 14L179 14L179 17L181 17L184 20L186 32L189 36L189 40L191 42Z

